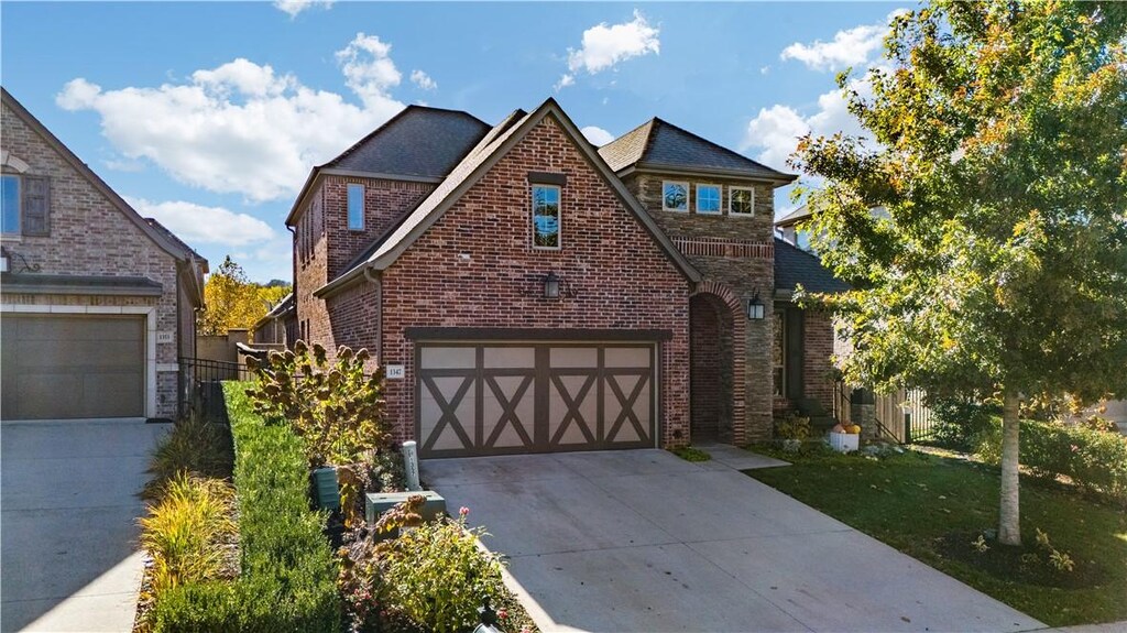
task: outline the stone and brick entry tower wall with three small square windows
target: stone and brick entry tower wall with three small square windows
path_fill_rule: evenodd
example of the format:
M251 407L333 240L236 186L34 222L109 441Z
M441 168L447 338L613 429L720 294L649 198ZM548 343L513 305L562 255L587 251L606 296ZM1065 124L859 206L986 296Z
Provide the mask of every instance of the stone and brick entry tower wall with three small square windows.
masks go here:
M689 182L689 212L662 209L662 182ZM692 179L683 176L635 172L624 182L646 206L655 222L680 244L701 271L702 292L729 304L733 323L733 440L766 439L772 428L771 340L774 323L774 193L770 185L730 178ZM721 186L721 213L698 214L696 184ZM733 186L755 190L754 214L729 216ZM713 255L718 253L718 255ZM709 285L712 284L712 285ZM756 292L764 319L748 321L745 302Z

